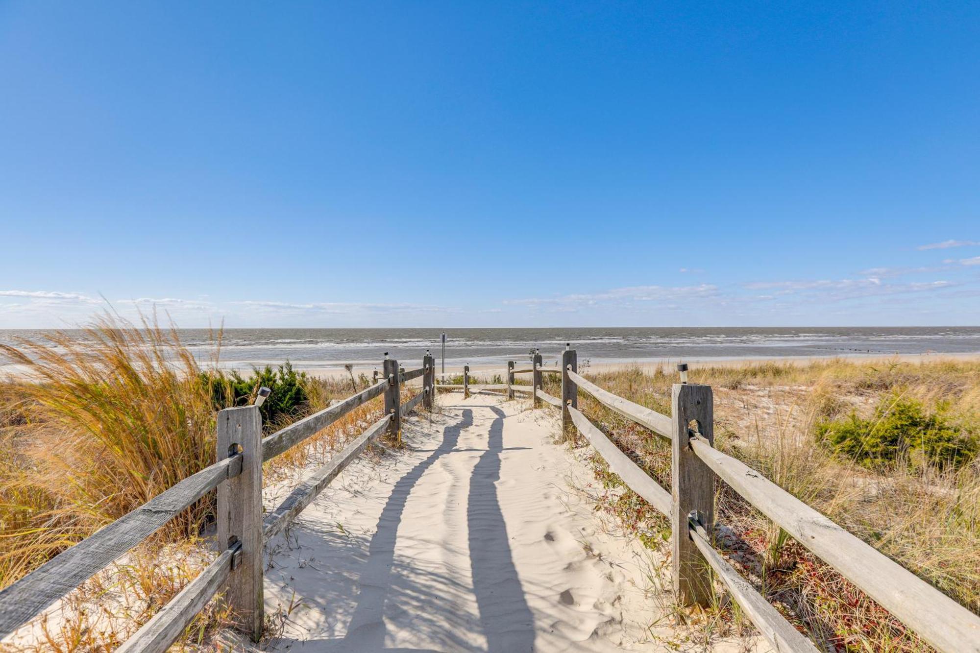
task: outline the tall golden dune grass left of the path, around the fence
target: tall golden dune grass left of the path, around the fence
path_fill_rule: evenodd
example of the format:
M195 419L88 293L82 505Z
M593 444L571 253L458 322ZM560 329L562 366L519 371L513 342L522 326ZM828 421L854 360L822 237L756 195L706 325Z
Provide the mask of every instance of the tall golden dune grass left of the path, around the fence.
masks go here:
M0 382L0 587L214 463L218 410L249 403L260 383L276 397L267 402L268 430L352 392L351 379L310 378L288 365L223 374L212 365L220 331L212 360L201 364L155 317L130 324L106 315L80 338L45 337L0 348L0 360L28 370ZM380 415L380 398L352 411L266 463L266 481L297 479ZM214 554L202 535L214 503L212 493L191 506L67 597L56 621L40 622L39 637L3 650L113 650L207 566ZM228 617L212 602L179 646L207 640Z

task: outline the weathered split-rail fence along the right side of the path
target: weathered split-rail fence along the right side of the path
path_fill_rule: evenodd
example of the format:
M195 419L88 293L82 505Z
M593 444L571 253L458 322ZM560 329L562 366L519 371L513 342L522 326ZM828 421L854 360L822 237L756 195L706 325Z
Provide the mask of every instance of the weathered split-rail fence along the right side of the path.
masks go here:
M675 384L671 415L667 417L581 377L573 350L563 352L559 370L543 368L538 354L532 357L530 368L518 370L514 362L509 362L507 369L510 398L514 398L514 390L522 389L514 385L514 375L532 375L528 391L533 392L533 405L544 402L561 410L563 427L576 428L627 487L670 519L673 585L681 604L711 603L713 572L777 651L817 650L715 550L713 533L718 525L713 506L717 477L937 650L980 653L980 617L760 472L715 449L710 385ZM544 374L562 375L561 399L543 391ZM669 492L578 410L579 391L670 441Z

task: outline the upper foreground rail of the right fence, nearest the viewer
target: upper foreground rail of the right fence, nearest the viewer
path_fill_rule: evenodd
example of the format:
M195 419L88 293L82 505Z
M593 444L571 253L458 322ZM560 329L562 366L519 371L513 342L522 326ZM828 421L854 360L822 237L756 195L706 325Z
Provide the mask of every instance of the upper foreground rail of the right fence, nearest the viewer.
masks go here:
M695 454L763 515L940 651L980 653L980 617L745 463L699 439Z

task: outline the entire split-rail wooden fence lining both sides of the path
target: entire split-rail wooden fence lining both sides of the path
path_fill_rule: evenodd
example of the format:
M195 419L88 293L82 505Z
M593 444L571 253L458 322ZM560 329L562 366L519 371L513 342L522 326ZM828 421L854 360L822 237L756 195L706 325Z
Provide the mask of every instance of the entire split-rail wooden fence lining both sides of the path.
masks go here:
M515 375L525 374L531 375L530 385L516 384ZM542 380L546 374L562 375L561 397L544 391ZM509 362L506 383L471 384L468 366L462 384L436 383L436 377L459 376L437 375L433 358L428 354L422 367L411 372L400 369L397 361L385 360L381 380L266 438L262 437L258 407L221 411L218 462L181 480L0 591L0 637L23 626L217 488L221 554L118 650L128 653L167 650L194 616L220 592L235 613L244 618L240 627L257 640L264 619L262 550L265 542L293 521L381 433L397 438L402 416L419 402L431 407L438 390L462 390L467 396L471 392L495 393L508 399L515 399L516 393L529 394L534 408L548 404L561 410L563 428L577 429L627 487L670 519L672 578L682 604L711 603L713 572L776 650L809 653L817 650L715 549L717 477L937 650L980 653L980 617L760 472L715 449L710 385L675 384L668 417L618 397L580 376L576 352L570 349L562 353L559 369L543 367L540 353L531 357L529 368L518 369L514 361ZM399 405L402 384L417 377L422 377L421 391ZM579 391L670 442L669 491L578 410ZM263 517L262 464L381 395L384 395L383 417Z

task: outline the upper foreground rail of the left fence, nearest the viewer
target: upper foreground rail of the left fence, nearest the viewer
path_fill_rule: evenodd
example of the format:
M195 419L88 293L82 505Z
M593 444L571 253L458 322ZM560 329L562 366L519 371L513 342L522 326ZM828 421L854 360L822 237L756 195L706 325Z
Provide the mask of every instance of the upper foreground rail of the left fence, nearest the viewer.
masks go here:
M214 465L175 483L0 590L0 637L20 628L241 469L241 455L221 456Z

